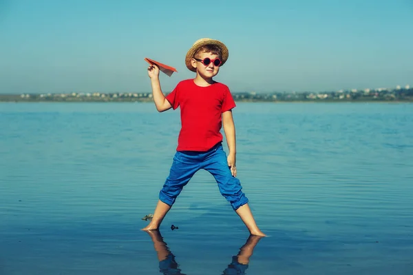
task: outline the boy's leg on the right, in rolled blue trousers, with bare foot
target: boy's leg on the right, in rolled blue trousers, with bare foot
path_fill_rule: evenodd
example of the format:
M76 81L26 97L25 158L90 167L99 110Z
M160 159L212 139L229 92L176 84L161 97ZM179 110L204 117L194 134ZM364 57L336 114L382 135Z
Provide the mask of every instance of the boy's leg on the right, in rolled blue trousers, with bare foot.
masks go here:
M218 147L218 149L213 152L213 155L204 164L203 168L214 176L222 196L231 203L233 210L240 216L249 232L257 236L265 236L255 223L253 214L248 205L248 198L246 198L244 192L242 192L240 180L231 174L228 162L226 161L226 154L222 149L222 146Z

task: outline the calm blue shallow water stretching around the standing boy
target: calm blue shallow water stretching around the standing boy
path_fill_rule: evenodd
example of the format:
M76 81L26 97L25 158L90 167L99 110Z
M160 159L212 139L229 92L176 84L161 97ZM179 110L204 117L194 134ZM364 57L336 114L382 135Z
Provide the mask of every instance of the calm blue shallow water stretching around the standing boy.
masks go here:
M234 118L238 178L269 235L252 244L205 171L161 236L140 231L178 111L0 103L0 274L413 274L412 104L237 103Z

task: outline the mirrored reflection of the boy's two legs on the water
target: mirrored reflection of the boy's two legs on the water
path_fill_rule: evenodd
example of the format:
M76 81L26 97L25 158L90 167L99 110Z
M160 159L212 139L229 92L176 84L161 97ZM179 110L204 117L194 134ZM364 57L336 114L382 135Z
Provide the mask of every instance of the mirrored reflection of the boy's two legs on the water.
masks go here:
M178 263L175 261L175 255L167 247L167 243L162 238L159 230L149 230L147 231L149 236L151 236L153 241L153 247L155 247L156 253L158 254L159 261L159 271L162 274L167 275L185 275L179 269ZM261 236L248 236L245 244L240 248L237 256L232 257L231 263L224 269L223 275L226 274L245 274L248 268L249 258L253 255L255 245L260 241Z

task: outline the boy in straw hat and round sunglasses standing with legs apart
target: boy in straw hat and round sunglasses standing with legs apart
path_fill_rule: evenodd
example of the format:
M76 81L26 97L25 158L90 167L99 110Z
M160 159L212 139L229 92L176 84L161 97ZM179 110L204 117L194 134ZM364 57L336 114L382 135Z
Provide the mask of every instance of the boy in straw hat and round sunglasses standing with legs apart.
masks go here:
M228 55L226 45L220 41L195 41L187 52L185 63L189 70L196 72L196 77L180 81L167 97L160 88L158 66L149 65L148 74L156 109L165 112L180 107L182 128L177 152L169 176L160 190L153 218L142 230L157 230L182 188L195 172L204 169L214 176L222 196L231 203L250 234L265 236L255 224L248 198L236 178L235 125L231 112L235 102L226 85L213 81ZM222 149L222 125L229 147L228 157Z

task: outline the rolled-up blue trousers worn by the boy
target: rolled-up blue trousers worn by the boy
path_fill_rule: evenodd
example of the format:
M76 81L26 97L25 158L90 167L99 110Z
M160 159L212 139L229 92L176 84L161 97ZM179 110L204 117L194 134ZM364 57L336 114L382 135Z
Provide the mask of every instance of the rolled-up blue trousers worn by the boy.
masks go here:
M218 143L207 152L176 152L169 176L159 192L160 201L172 206L182 188L200 169L207 170L213 175L222 196L231 203L233 210L248 203L248 198L242 192L240 180L231 174L222 143Z

